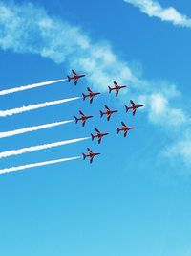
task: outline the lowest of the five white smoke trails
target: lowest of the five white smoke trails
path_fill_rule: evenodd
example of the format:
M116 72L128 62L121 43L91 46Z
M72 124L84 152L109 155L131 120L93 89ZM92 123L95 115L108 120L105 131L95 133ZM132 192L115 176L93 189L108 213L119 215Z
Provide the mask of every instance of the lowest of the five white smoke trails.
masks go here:
M10 173L10 172L16 172L16 171L20 171L20 170L25 170L25 169L29 169L29 168L33 168L33 167L53 165L53 164L57 164L57 163L61 163L61 162L72 161L72 160L79 159L79 158L81 158L81 156L62 158L62 159L57 159L57 160L52 160L52 161L39 162L39 163L34 163L34 164L29 164L29 165L21 165L21 166L17 166L17 167L1 169L0 175L5 174L5 173Z

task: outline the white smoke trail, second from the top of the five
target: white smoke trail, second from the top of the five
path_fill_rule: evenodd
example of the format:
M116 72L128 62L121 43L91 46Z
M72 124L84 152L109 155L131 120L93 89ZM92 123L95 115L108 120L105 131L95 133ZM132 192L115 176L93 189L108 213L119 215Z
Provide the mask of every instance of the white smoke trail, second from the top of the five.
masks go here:
M11 116L15 114L20 114L26 111L31 111L37 108L42 108L50 105L59 105L63 104L66 102L71 102L80 99L80 97L74 97L74 98L69 98L69 99L63 99L63 100L58 100L58 101L53 101L53 102L46 102L42 104L36 104L36 105L24 105L21 107L13 108L13 109L8 109L8 110L0 110L0 117L6 117L6 116Z

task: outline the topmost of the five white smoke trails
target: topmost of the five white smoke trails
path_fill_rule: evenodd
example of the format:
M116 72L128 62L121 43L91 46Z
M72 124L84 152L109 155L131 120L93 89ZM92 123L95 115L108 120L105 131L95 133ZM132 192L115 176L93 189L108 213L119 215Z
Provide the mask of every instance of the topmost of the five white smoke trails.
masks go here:
M52 84L52 83L59 82L59 81L66 81L66 79L64 79L64 80L53 80L53 81L42 81L42 82L33 83L33 84L29 84L29 85L24 85L24 86L20 86L20 87L16 87L16 88L2 90L2 91L0 91L0 96L11 94L11 93L14 93L14 92L25 91L25 90L29 90L29 89L32 89L32 88L45 86L45 85Z

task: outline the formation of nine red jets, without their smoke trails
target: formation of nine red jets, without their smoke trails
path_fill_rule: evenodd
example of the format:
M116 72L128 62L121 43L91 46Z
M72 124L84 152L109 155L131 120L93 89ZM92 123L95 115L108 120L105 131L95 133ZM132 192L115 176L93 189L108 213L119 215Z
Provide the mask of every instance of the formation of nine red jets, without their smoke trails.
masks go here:
M80 78L85 77L85 75L83 75L83 74L77 74L74 71L74 69L72 70L72 73L73 73L73 77L70 77L69 75L67 75L67 78L68 78L69 82L71 80L74 80L74 85L77 84L77 81ZM109 93L112 93L112 91L115 91L115 95L117 97L119 91L123 88L126 88L127 86L126 85L118 85L117 81L113 81L113 83L114 83L114 87L108 86ZM90 87L87 87L87 91L88 91L87 94L82 93L82 97L83 97L84 101L87 98L89 98L90 104L93 103L93 100L96 96L101 94L100 92L93 92ZM137 105L137 104L134 103L133 100L130 100L130 106L128 106L128 105L124 105L124 106L125 106L126 113L131 109L132 110L132 115L135 116L138 108L143 107L144 105ZM102 118L104 115L106 115L107 121L110 121L111 116L114 113L117 113L118 110L117 109L110 109L107 105L104 105L104 107L105 107L105 110L99 110L100 117ZM81 110L79 110L79 115L80 115L79 117L74 116L74 120L75 120L76 124L78 123L78 121L81 121L82 127L84 127L86 125L86 121L88 119L93 118L93 115L85 115ZM124 137L126 137L127 133L129 133L129 130L135 128L135 127L125 125L125 123L123 121L121 121L121 125L122 125L122 128L117 127L117 134L120 131L123 131L123 136ZM101 141L102 141L102 137L104 137L106 135L109 135L109 132L101 132L98 128L95 128L95 130L96 130L96 134L91 133L92 141L97 139L98 144L100 144ZM90 148L87 148L87 151L88 151L88 153L84 153L84 152L82 153L83 159L85 160L86 158L89 158L90 163L92 164L94 157L99 155L100 152L93 152L93 151L91 151Z

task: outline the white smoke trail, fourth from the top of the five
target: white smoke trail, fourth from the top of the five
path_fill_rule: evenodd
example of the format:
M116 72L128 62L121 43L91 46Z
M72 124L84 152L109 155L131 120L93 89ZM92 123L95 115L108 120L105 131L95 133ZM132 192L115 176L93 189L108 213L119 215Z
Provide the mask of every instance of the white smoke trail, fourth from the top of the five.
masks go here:
M58 141L58 142L53 142L53 143L49 143L49 144L43 144L43 145L32 146L29 148L23 148L23 149L19 149L19 150L4 151L4 152L0 152L0 158L9 157L11 155L23 154L23 153L32 152L32 151L42 151L42 150L51 149L51 148L62 146L62 145L80 142L80 141L87 140L87 139L90 139L90 137Z

